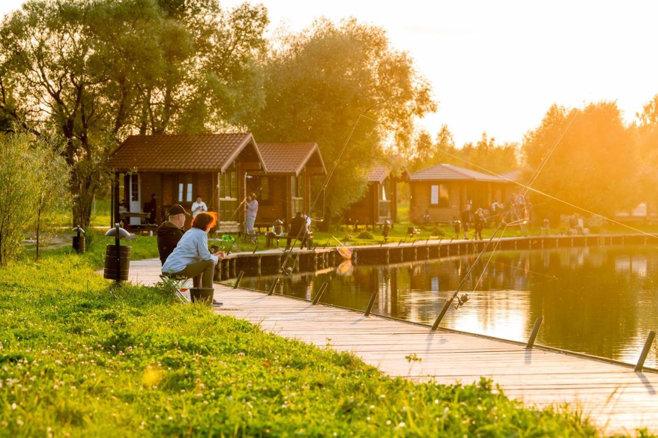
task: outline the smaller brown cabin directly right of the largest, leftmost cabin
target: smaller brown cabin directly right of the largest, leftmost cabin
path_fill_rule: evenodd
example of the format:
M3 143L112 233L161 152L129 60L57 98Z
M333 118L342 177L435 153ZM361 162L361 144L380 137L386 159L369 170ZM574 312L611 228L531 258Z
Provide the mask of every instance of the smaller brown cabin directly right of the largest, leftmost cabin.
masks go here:
M309 213L311 178L326 175L317 143L258 143L267 172L253 172L247 190L257 194L256 225L271 227L280 219L289 224L298 211ZM322 205L316 205L314 216Z

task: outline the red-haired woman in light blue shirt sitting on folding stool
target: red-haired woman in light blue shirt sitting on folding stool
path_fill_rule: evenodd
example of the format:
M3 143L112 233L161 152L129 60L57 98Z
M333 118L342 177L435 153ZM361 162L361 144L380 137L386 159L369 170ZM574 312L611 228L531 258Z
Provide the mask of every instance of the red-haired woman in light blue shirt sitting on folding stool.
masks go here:
M199 213L190 230L178 241L176 249L166 258L162 272L169 278L192 278L193 287L213 287L215 265L224 253L211 254L208 250L208 231L215 226L215 218Z

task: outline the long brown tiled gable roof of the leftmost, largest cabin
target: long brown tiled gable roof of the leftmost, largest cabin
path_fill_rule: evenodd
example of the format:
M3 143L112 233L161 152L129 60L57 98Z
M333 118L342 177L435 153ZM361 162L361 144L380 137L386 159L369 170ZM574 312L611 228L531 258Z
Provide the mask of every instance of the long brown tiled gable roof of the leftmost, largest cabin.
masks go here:
M249 133L130 135L110 154L115 170L141 172L224 172L249 144L267 171Z

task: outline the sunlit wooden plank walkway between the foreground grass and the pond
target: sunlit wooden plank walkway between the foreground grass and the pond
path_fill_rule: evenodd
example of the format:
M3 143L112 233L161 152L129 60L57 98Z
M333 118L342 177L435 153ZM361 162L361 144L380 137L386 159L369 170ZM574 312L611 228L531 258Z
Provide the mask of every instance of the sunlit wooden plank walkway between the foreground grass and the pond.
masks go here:
M131 280L159 281L157 259L131 262ZM438 383L493 379L509 397L529 406L580 410L603 433L634 435L637 428L658 432L658 373L607 360L526 349L501 341L306 301L215 285L224 305L217 314L260 324L265 331L338 351L355 353L389 376ZM420 360L409 360L415 354ZM639 355L639 352L638 352Z

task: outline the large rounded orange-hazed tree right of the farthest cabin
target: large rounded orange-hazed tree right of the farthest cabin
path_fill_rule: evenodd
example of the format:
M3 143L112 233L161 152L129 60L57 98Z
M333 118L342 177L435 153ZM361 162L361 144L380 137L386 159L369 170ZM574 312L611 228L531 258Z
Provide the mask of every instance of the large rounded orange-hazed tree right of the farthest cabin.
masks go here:
M533 188L603 215L638 202L635 145L614 102L584 109L553 105L526 134L522 151L528 177L545 162ZM552 214L576 210L540 195L533 199Z

